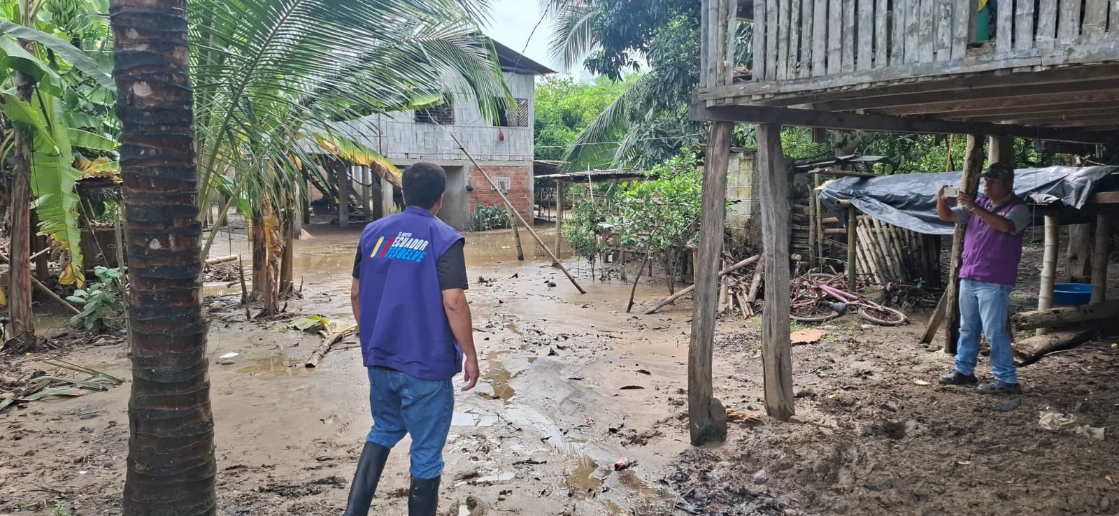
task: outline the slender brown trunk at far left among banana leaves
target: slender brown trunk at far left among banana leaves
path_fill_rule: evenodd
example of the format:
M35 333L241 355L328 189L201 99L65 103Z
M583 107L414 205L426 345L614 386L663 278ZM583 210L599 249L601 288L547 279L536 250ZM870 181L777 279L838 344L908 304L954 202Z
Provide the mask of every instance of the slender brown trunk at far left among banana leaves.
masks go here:
M22 40L20 41L23 43ZM16 73L16 94L29 102L35 82ZM35 348L35 315L31 311L31 131L16 128L16 169L11 180L11 265L8 311L13 353Z

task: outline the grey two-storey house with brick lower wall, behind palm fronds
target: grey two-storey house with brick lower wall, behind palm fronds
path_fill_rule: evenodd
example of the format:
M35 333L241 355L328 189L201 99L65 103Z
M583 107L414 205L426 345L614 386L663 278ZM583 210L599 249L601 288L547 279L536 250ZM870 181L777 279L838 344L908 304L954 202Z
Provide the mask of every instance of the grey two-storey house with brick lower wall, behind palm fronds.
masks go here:
M458 229L469 228L470 213L478 205L504 203L459 150L452 133L505 190L516 209L532 219L536 77L555 72L500 43L492 43L519 112L509 110L495 123L482 118L473 101L457 94L440 106L368 116L345 128L349 138L402 169L419 161L442 166L448 182L439 217Z

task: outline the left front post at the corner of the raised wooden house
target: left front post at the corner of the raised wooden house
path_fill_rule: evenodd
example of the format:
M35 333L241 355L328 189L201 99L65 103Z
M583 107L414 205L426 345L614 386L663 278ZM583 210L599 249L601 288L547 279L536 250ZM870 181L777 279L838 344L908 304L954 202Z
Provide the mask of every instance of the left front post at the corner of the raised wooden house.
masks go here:
M726 413L722 403L713 396L712 346L715 340L715 312L718 309L718 271L723 255L723 225L726 221L726 173L733 130L732 123L712 123L703 171L699 257L696 263L692 343L688 348L688 421L692 444L695 445L726 438ZM724 412L718 414L718 411Z

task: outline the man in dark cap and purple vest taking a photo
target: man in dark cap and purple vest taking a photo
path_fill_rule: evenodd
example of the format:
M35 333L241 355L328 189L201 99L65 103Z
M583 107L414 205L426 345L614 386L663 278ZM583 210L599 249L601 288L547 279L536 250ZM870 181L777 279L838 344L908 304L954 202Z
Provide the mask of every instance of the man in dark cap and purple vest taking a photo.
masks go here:
M1014 168L991 163L984 177L984 195L975 198L960 194L958 206L949 207L944 189L937 198L941 221L967 225L963 238L963 264L960 268L960 340L956 347L956 367L940 377L946 385L975 385L979 332L990 343L990 367L995 378L978 390L981 393L1019 393L1018 377L1007 331L1010 290L1017 280L1022 260L1022 235L1032 217L1026 205L1014 195Z

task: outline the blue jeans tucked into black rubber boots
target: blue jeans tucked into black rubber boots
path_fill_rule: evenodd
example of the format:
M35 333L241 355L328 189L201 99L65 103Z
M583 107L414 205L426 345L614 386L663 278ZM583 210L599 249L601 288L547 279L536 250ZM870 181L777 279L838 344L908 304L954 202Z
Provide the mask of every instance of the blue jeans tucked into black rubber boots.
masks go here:
M454 412L451 381L422 379L384 367L369 367L368 373L373 429L366 442L393 448L410 434L412 476L443 475L443 445Z

